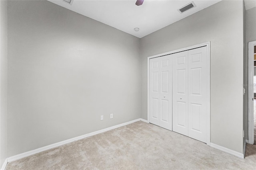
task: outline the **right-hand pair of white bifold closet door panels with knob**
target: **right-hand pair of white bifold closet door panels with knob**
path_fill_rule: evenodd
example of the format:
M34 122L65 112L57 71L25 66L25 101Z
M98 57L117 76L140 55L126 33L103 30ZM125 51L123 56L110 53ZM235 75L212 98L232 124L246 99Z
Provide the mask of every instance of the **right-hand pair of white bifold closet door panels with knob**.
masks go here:
M173 131L207 142L207 48L173 57Z

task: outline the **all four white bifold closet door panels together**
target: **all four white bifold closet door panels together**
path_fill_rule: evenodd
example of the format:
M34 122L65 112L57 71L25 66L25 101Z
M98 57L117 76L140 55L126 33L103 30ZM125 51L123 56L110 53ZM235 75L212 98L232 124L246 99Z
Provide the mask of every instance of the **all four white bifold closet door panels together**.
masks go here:
M149 122L207 142L210 69L207 47L149 59Z

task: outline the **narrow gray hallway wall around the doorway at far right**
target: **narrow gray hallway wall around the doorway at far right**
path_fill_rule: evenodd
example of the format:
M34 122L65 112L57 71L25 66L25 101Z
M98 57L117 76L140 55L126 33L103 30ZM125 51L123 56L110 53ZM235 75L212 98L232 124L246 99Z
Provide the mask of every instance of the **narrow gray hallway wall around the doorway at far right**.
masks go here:
M248 84L248 43L256 41L256 7L245 11L245 84ZM254 75L256 69L254 67ZM250 85L250 84L249 84ZM248 87L245 95L244 137L248 139Z

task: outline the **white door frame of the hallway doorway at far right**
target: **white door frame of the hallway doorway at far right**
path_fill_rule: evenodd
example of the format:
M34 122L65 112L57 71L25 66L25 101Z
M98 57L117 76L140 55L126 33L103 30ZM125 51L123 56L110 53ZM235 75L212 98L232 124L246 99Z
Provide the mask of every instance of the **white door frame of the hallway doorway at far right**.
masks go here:
M254 143L254 99L253 76L254 76L254 46L256 41L248 43L248 143Z

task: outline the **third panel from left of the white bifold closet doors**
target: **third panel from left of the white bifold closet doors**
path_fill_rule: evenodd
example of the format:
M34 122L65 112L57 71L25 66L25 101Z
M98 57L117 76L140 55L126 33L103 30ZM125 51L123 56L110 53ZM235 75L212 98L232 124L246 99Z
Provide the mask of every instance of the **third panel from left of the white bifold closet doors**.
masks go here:
M173 131L188 136L188 51L171 56L173 58L172 128Z

